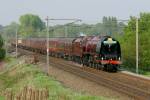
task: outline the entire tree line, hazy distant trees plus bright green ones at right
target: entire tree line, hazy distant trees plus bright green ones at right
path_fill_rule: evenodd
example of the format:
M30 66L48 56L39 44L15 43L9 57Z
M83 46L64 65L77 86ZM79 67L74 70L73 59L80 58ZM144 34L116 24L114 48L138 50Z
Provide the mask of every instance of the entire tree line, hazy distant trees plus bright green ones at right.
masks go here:
M141 13L139 21L139 66L142 70L150 70L150 13ZM122 49L124 68L135 70L135 30L136 17L131 16L128 23L118 21L116 17L104 16L102 22L96 24L64 24L49 27L50 37L77 37L85 35L111 35L119 40ZM0 32L6 37L15 37L16 27L21 38L46 37L46 25L37 15L25 14L18 23L1 26Z

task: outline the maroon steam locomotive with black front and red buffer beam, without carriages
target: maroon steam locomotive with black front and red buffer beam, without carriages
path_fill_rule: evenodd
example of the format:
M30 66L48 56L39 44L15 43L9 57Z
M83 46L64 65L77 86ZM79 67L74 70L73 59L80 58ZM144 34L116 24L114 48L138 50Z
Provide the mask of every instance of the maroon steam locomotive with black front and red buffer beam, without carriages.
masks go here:
M77 38L73 41L73 58L86 66L117 71L121 64L120 44L110 36Z

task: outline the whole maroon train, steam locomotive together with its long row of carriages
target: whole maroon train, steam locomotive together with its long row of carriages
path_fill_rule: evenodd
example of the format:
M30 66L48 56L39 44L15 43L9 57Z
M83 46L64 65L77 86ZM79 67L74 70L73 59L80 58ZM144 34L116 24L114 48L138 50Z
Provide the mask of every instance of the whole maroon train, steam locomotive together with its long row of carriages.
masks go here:
M15 45L15 41L12 42ZM18 47L46 54L45 38L21 39ZM49 53L86 66L117 71L121 64L121 50L117 40L110 36L83 36L77 38L50 38Z

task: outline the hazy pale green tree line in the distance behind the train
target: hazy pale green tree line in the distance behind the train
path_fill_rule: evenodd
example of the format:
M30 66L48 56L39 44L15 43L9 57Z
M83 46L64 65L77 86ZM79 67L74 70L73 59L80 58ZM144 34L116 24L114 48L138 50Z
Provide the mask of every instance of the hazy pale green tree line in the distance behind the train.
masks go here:
M103 17L96 24L64 24L49 26L50 37L77 37L86 35L111 35L123 33L125 24L118 22L116 17ZM37 15L25 14L20 16L19 24L12 22L3 28L5 36L15 37L16 29L20 37L46 37L46 25Z

